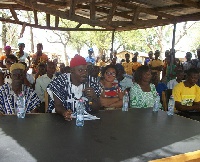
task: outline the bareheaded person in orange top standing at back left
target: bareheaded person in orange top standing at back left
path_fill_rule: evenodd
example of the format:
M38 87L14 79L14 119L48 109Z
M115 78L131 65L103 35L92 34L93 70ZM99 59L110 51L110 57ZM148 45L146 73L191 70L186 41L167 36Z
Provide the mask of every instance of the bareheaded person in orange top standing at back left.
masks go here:
M32 56L32 66L33 66L33 73L38 72L38 65L40 63L46 64L48 61L48 56L42 52L43 50L43 45L42 43L37 44L37 52Z

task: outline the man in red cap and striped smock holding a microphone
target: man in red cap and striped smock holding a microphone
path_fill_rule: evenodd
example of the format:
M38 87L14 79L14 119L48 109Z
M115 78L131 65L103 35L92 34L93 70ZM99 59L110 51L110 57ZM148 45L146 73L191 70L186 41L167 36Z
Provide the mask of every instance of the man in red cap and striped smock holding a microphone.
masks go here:
M81 98L86 111L89 109L97 111L101 107L100 85L90 82L86 88L88 78L86 60L80 55L75 55L70 61L70 71L71 73L64 73L53 79L47 88L50 95L48 111L51 112L55 108L56 113L62 115L65 120L71 120L71 114L76 111ZM90 107L87 98L90 99Z

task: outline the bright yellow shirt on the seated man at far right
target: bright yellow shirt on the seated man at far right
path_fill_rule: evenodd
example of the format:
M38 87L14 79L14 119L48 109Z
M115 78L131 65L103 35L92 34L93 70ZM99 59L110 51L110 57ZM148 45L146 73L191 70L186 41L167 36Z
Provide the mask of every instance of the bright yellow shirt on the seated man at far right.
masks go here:
M185 87L184 83L177 84L172 91L174 100L182 105L192 106L193 102L200 102L200 87L196 84L191 88Z

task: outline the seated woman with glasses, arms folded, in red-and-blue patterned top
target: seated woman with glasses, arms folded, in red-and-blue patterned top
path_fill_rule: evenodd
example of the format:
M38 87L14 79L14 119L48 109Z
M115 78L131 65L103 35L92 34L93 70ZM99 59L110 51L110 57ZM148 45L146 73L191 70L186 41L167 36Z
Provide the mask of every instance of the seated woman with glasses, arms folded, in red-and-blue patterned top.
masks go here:
M100 83L103 89L100 96L101 106L103 108L122 108L124 94L119 84L114 82L117 76L115 65L107 65L104 67L101 75Z

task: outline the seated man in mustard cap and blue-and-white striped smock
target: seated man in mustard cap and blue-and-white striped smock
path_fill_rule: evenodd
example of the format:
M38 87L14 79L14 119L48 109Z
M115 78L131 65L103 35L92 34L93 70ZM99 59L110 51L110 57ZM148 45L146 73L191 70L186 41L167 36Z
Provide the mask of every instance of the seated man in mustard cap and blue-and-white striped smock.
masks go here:
M0 88L0 114L16 114L15 103L18 95L25 96L26 113L37 112L40 99L30 87L23 84L25 66L14 63L10 67L12 83Z

